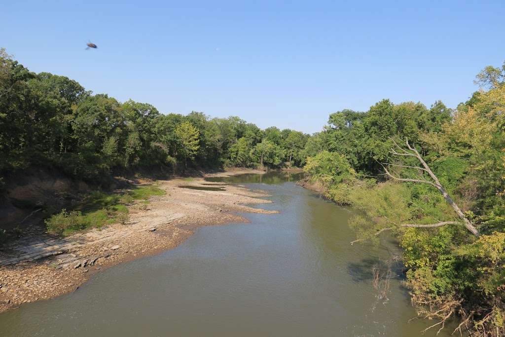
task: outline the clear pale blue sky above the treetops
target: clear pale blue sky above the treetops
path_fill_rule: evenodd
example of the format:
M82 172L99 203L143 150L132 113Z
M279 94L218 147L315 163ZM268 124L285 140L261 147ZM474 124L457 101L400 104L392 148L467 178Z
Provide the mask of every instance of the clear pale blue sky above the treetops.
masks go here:
M409 4L412 3L412 4ZM415 3L415 4L414 4ZM35 72L161 112L321 129L328 114L442 100L505 59L505 2L10 1L0 46ZM84 50L91 40L97 50Z

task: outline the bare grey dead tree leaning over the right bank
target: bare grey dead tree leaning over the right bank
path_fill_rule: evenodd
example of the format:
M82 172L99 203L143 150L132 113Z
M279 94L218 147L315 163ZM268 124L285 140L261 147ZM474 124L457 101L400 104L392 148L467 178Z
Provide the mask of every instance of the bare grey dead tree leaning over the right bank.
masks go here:
M382 167L384 168L384 172L386 173L387 176L394 180L399 180L399 181L409 181L409 182L418 182L418 183L423 183L423 184L428 184L440 191L442 196L444 197L445 201L452 207L453 210L455 210L456 214L458 214L459 218L461 219L461 222L463 222L463 225L475 236L479 236L479 231L475 226L472 224L472 222L463 214L459 206L452 200L452 198L449 196L445 188L442 186L440 181L438 180L437 176L433 173L433 171L430 169L428 164L424 161L423 157L419 154L419 152L416 150L414 146L411 146L409 143L409 140L406 138L405 139L405 145L407 146L407 149L404 149L400 147L394 139L391 138L393 141L396 149L391 149L391 153L395 156L403 156L403 157L414 157L416 158L421 166L408 166L408 165L397 165L397 164L391 164L391 163L383 163L381 164ZM406 169L416 169L419 172L421 172L421 178L420 179L411 179L411 178L402 178L397 175L391 174L390 168L391 167L399 167L399 168L406 168ZM424 173L427 173L429 178L426 177ZM426 179L426 178L427 179ZM457 224L460 223L459 221L442 221L434 224L428 224L428 225L417 225L417 224L403 224L401 227L440 227L444 226L447 224Z

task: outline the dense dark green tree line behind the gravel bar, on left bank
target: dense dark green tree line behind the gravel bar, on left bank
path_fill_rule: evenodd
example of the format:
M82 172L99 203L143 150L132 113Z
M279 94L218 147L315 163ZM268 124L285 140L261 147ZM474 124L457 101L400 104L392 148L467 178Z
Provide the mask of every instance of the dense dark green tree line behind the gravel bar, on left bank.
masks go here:
M85 181L148 167L299 166L309 135L238 117L162 114L77 81L33 73L0 50L0 179L45 167ZM2 181L2 180L0 180Z

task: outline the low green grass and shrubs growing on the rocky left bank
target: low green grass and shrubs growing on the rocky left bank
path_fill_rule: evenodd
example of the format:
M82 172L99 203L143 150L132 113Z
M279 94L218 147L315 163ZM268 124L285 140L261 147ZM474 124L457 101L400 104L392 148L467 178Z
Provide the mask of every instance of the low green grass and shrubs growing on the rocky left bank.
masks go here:
M162 196L165 191L156 185L134 187L121 195L93 191L75 210L63 209L45 220L47 231L64 236L87 228L100 228L111 223L128 221L128 204L141 200L148 204L151 196Z

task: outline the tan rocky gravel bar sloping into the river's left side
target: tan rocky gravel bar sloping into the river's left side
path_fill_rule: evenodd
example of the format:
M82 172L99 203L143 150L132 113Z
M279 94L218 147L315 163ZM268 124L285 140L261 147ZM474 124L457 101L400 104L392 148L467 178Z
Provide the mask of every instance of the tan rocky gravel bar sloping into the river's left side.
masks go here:
M233 170L210 176L264 173ZM127 224L91 229L65 238L28 237L0 253L0 312L75 290L90 275L121 262L176 247L200 226L247 221L237 212L275 213L246 206L269 203L262 191L207 182L159 180L164 196L130 207ZM213 190L181 188L214 187Z

